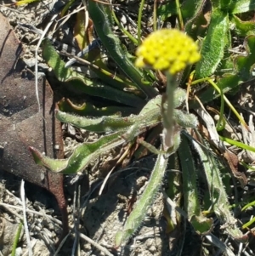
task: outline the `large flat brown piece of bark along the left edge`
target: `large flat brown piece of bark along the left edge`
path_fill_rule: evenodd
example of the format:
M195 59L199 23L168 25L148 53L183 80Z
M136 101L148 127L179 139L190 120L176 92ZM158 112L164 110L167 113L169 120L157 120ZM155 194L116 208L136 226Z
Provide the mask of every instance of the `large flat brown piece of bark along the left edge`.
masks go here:
M20 60L21 44L2 14L0 23L0 169L52 192L66 234L63 176L36 165L28 150L34 146L47 156L64 156L60 123L54 117L54 95L48 82L40 79L38 111L34 79L22 71L25 64Z

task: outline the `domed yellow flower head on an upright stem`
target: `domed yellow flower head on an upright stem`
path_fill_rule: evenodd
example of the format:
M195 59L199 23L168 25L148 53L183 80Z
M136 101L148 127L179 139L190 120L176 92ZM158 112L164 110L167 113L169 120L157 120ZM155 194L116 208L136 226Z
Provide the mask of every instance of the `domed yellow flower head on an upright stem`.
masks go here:
M149 66L171 74L176 74L201 58L193 39L177 29L151 33L139 46L136 55L138 59L135 65L138 67Z

